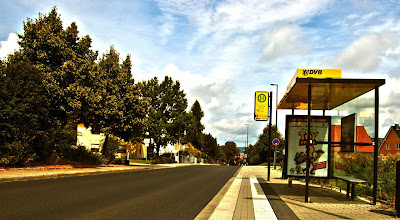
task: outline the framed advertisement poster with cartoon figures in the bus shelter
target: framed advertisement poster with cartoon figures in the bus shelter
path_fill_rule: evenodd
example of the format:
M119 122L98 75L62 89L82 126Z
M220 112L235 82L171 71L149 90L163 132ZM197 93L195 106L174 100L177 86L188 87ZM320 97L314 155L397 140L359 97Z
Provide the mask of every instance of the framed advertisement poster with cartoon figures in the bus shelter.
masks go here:
M306 176L307 116L288 115L287 123L287 166L288 176ZM331 118L312 116L310 123L310 176L328 177L328 158ZM324 144L318 142L325 142Z

